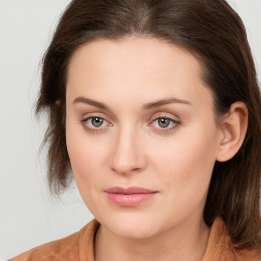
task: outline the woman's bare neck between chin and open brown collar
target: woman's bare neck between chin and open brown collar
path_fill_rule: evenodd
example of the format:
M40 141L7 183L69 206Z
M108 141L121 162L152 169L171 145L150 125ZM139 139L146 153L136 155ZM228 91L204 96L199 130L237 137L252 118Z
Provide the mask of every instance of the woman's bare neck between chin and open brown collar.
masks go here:
M203 218L161 231L146 239L118 237L100 225L95 237L95 261L200 261L210 228Z

